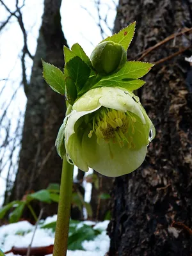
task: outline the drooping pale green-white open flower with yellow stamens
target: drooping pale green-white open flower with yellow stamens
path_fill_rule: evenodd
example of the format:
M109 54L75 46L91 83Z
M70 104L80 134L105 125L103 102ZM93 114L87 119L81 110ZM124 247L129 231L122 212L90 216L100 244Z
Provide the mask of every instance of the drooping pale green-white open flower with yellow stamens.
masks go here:
M84 172L90 167L108 177L136 170L155 136L139 98L114 87L84 93L63 125L69 161Z

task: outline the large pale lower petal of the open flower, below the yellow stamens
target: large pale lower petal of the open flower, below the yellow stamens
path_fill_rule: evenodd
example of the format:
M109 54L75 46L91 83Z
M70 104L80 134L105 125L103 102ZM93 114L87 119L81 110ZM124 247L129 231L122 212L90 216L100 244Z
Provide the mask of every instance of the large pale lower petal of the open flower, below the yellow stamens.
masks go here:
M108 177L118 177L131 173L144 161L147 153L147 145L138 150L128 148L127 145L120 148L117 143L100 141L95 143L96 138L88 138L84 133L82 141L83 157L90 168Z

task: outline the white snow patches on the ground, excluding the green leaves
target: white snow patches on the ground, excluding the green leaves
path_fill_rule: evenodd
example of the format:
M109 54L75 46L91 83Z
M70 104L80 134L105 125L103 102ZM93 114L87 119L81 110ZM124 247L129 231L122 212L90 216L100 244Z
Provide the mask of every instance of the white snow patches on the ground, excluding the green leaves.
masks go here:
M52 221L56 221L56 215L48 217L43 224L47 225ZM95 223L94 221L82 221L77 224L77 228L83 227L83 223L93 226L97 230L101 230L101 234L95 237L92 241L83 241L83 250L67 251L67 256L104 256L109 249L109 237L106 234L106 228L109 221ZM11 250L12 246L27 247L31 243L33 230L35 226L28 221L19 221L10 225L0 227L0 248L3 252ZM54 232L51 229L40 228L36 229L35 237L32 246L49 246L54 243ZM13 253L6 254L13 256ZM19 256L19 255L18 255ZM48 255L47 255L48 256ZM52 256L51 254L49 256Z

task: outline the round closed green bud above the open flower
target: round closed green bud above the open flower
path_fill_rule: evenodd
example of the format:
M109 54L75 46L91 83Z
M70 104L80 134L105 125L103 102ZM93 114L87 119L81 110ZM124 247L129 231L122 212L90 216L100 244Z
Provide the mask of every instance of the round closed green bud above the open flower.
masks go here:
M122 45L106 41L95 47L90 59L99 74L109 74L124 66L127 54Z

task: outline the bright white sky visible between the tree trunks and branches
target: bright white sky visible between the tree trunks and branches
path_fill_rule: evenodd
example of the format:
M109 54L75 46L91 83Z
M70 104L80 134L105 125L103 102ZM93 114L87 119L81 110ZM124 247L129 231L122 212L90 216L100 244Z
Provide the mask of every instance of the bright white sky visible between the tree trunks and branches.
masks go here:
M12 12L15 11L16 0L4 0L4 3ZM19 1L19 6L23 1ZM104 29L104 38L111 35L113 23L116 15L116 5L118 0L100 0L99 15L106 22L101 22L100 26ZM24 26L28 31L28 48L32 55L36 51L36 39L38 38L38 29L41 24L41 17L44 10L44 1L42 0L26 0L22 8L22 18ZM93 48L102 40L100 29L98 26L99 15L95 1L91 0L63 0L61 4L61 24L65 38L69 47L78 42L90 56ZM0 26L1 22L7 19L8 12L4 6L0 4ZM75 31L75 33L74 33ZM0 145L6 136L6 125L11 122L11 131L14 134L17 128L18 120L23 123L23 116L26 106L26 96L21 84L22 69L20 65L20 56L22 54L23 37L19 24L15 17L12 17L9 24L0 33L0 118L4 109L8 106L13 93L15 100L12 100L3 125L0 126ZM26 72L28 81L31 75L31 66L33 62L26 57ZM16 92L17 91L17 92ZM19 144L19 138L15 138ZM13 143L10 143L13 147ZM19 147L15 150L13 156L13 168L17 170L17 156ZM0 157L4 159L4 172L0 173L0 205L3 202L3 193L5 188L6 176L9 168L10 150L0 151ZM0 168L1 169L1 168ZM89 197L89 196L88 196ZM88 200L88 199L87 199Z

